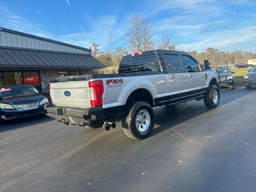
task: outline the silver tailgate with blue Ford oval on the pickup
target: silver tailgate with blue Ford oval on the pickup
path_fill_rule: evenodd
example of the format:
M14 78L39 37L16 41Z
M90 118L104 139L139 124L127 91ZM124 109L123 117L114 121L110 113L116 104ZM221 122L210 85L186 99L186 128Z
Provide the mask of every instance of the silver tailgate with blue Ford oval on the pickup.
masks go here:
M89 81L68 81L50 84L50 95L55 106L89 108Z

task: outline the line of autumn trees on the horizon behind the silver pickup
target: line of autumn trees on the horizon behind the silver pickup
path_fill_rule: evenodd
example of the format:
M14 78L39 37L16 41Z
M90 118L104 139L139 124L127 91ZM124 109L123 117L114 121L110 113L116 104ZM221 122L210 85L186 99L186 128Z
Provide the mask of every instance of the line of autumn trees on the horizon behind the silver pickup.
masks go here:
M134 13L124 36L124 42L126 42L127 48L115 46L112 32L110 32L107 50L105 52L100 51L99 45L93 42L90 47L92 56L106 67L112 67L112 72L116 73L116 67L119 65L122 56L127 54L154 49L186 51L182 49L182 46L175 45L167 36L162 36L160 41L156 41L154 34L154 30L146 18L141 14ZM212 47L205 48L205 52L197 53L196 51L188 51L188 53L201 64L207 58L211 61L212 66L227 65L230 64L230 61L237 60L246 60L247 62L248 59L256 58L256 54L252 54L250 51L237 50L225 52Z

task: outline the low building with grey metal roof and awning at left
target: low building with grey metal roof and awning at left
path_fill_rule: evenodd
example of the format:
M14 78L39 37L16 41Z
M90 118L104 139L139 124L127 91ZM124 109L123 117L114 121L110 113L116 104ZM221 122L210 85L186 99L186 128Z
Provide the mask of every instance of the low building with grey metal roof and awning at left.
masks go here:
M103 67L90 49L0 28L0 86L31 84L41 90L51 78Z

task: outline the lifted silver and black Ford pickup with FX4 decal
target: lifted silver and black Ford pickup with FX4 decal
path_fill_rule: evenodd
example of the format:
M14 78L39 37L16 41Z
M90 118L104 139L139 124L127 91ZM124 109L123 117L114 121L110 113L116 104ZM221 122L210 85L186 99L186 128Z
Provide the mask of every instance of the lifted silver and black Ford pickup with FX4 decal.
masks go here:
M54 78L47 115L65 125L78 124L109 130L122 121L124 133L145 139L154 126L153 107L184 105L204 100L208 108L219 104L218 73L186 52L153 50L122 57L118 74Z

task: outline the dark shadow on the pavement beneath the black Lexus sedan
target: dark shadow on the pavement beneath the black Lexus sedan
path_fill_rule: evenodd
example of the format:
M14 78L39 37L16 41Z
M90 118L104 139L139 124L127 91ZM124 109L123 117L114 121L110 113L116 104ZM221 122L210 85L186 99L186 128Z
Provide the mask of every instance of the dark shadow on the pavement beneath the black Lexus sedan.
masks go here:
M0 132L14 130L26 126L40 124L54 120L53 118L46 115L38 115L26 118L18 118L12 120L0 120Z

